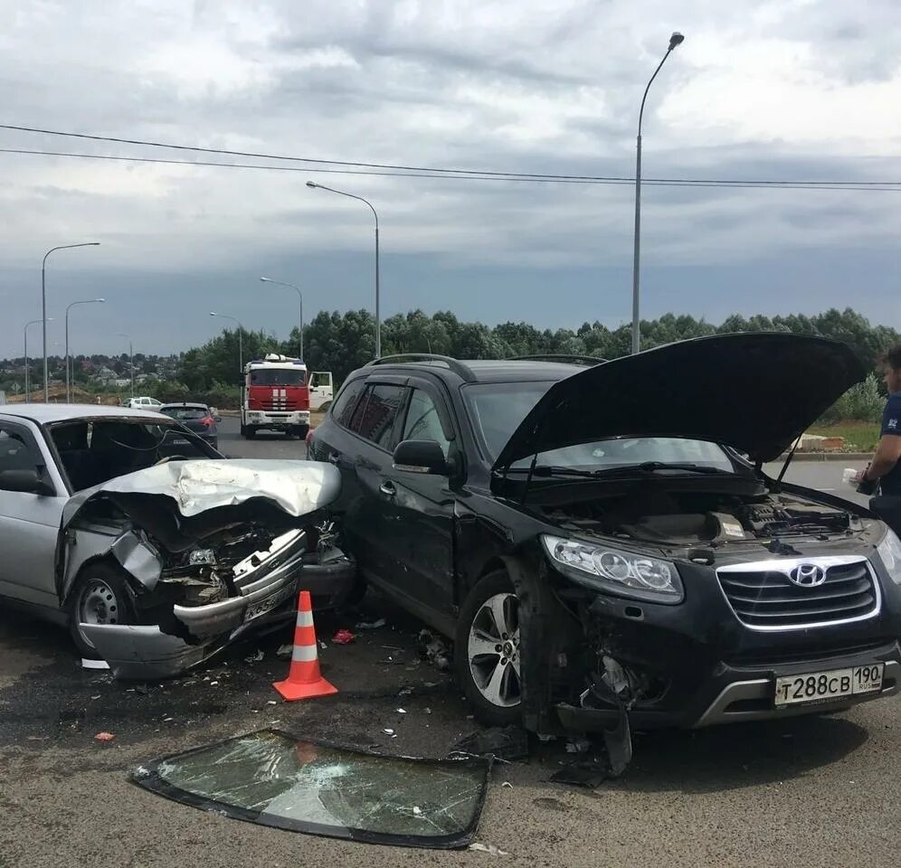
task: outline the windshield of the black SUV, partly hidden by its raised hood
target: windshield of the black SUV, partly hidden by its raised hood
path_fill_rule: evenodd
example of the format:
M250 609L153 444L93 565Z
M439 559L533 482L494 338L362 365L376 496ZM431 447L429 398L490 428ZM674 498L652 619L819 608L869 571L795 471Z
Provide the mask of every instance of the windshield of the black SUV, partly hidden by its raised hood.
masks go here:
M526 418L553 382L479 383L464 386L464 401L473 428L488 459L494 462L513 432ZM552 449L538 455L541 467L628 467L649 461L661 464L696 464L733 472L735 466L726 451L705 440L677 437L632 437L597 440ZM529 467L532 457L522 458L511 467Z

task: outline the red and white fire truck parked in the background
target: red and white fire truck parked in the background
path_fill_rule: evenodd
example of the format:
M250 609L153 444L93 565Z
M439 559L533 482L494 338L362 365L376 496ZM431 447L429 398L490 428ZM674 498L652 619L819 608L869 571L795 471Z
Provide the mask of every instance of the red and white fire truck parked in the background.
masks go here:
M300 359L270 353L244 365L242 437L252 439L261 429L307 436L309 384L307 365Z

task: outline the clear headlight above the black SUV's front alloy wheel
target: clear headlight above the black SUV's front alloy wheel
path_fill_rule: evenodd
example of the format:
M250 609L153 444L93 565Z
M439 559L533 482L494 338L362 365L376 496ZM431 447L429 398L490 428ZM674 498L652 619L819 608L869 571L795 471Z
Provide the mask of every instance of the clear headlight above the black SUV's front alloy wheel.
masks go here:
M685 596L676 565L669 561L547 533L542 534L541 542L551 560L586 588L659 603L678 603ZM898 559L901 566L901 552Z

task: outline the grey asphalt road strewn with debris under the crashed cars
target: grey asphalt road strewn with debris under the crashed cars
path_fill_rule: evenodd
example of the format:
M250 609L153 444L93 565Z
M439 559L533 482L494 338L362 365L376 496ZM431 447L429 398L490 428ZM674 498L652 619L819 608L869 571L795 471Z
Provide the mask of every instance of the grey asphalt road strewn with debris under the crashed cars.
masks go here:
M230 455L302 454L298 440L242 441L230 420L223 429ZM799 463L792 478L840 490L842 467ZM330 641L337 627L377 615L387 624L357 631L355 644ZM286 673L274 651L289 629L165 684L119 684L82 670L62 630L0 611L0 866L896 864L897 698L834 716L639 734L626 776L594 791L550 783L567 754L535 745L528 763L494 769L479 824L478 840L506 856L266 829L128 782L146 760L268 725L421 756L477 729L448 676L420 660L412 618L367 598L359 615L320 615L317 627L324 674L340 693L282 703L270 683ZM258 650L261 660L244 660ZM115 741L94 741L99 731Z

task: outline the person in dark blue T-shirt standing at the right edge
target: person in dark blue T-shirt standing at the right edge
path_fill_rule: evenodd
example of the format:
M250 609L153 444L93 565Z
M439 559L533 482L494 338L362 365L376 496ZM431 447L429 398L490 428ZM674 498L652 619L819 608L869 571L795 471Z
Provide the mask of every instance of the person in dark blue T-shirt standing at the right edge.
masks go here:
M888 387L876 454L860 475L858 491L872 495L870 510L901 535L901 344L882 358Z

